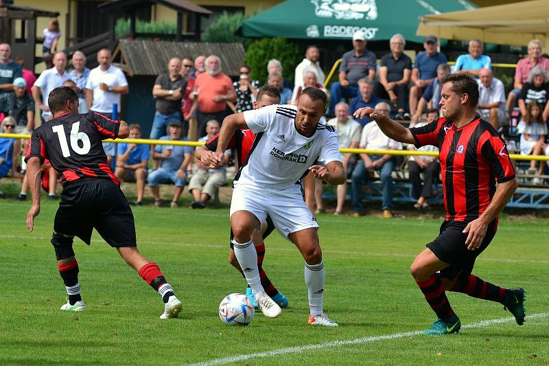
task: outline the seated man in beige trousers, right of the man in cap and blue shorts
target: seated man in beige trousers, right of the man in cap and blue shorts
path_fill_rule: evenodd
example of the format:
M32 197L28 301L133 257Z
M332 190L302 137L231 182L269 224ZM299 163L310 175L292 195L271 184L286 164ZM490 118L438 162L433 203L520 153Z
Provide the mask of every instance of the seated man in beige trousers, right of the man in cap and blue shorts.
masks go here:
M206 124L207 135L198 141L207 142L213 139L219 133L219 122L212 119ZM225 152L225 165L229 163L231 150ZM193 196L194 201L191 203L192 209L203 209L206 203L218 193L219 187L226 182L226 168L209 169L202 161L196 161L197 170L191 176L189 181L189 193Z

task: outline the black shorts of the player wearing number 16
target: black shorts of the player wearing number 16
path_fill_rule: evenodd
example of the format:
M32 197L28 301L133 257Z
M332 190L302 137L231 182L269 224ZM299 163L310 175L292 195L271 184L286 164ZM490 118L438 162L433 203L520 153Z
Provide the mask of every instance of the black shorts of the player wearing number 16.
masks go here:
M132 210L120 187L106 179L71 183L61 193L54 231L90 244L93 228L111 247L135 247Z

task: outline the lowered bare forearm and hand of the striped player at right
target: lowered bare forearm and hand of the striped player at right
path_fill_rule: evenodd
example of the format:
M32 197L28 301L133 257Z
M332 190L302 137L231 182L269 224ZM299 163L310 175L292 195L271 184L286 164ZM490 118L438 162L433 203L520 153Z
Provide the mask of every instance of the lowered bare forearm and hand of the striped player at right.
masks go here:
M482 239L486 235L486 231L490 222L492 222L504 209L505 205L509 202L519 183L517 179L513 178L511 181L500 183L498 190L495 191L491 203L486 210L480 215L479 218L473 220L467 224L467 227L463 229L463 233L468 233L467 249L474 251L482 244Z

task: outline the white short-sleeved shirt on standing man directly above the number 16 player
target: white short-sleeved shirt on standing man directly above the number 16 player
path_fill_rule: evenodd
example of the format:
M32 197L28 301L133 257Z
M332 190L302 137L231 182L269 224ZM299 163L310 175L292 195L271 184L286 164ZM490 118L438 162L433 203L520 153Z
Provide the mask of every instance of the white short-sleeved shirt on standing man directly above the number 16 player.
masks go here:
M90 71L86 89L93 91L93 102L90 109L100 113L113 113L113 105L118 104L118 112L120 109L120 94L112 91L102 91L99 85L104 83L107 87L126 87L128 80L121 69L110 65L106 71L102 71L100 66Z

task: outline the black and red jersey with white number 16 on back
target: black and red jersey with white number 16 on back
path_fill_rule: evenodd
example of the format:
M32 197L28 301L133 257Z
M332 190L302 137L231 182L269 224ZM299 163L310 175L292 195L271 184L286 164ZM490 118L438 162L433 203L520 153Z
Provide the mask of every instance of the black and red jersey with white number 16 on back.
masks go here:
M120 124L97 112L62 114L36 128L30 137L25 161L39 157L51 166L65 186L80 179L119 181L107 164L102 139L118 137Z

